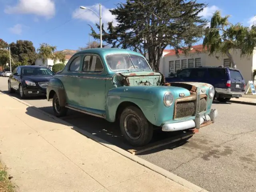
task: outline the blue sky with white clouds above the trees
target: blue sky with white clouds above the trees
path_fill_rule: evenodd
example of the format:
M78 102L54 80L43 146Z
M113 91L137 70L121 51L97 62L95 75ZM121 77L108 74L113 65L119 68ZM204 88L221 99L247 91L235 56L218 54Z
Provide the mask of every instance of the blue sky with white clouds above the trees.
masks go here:
M88 43L88 24L99 19L86 6L99 12L102 3L103 22L114 21L108 11L124 0L0 0L0 38L8 43L16 40L31 40L38 48L40 43L57 46L58 50L78 49ZM255 0L198 0L208 7L201 13L210 19L212 12L221 10L230 15L230 22L250 26L256 20ZM246 2L246 3L244 3Z

